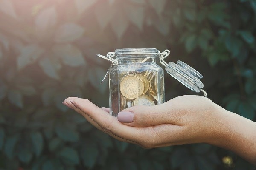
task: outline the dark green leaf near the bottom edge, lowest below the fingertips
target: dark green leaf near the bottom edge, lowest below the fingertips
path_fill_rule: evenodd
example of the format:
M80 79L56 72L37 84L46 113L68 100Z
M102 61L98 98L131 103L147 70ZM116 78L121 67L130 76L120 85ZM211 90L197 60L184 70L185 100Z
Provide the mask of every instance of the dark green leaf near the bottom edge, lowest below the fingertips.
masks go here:
M58 155L63 159L63 161L67 161L67 163L69 164L79 164L79 156L76 152L76 150L74 150L71 147L64 147L59 153Z

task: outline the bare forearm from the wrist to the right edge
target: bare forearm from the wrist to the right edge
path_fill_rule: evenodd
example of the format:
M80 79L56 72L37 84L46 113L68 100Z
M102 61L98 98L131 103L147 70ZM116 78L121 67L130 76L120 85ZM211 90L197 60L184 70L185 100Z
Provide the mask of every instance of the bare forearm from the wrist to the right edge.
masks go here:
M247 161L256 164L256 122L223 108L215 128L214 138L209 143L237 153Z

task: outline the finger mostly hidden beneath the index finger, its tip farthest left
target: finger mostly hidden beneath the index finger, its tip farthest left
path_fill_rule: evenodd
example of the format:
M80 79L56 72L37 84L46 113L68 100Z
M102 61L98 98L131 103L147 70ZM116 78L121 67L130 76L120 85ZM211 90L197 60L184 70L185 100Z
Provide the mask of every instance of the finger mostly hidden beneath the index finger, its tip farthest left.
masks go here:
M78 112L79 114L81 114L82 116L84 116L85 119L87 119L88 122L90 122L90 124L92 124L93 126L95 126L97 129L105 132L96 122L93 121L93 119L90 118L90 116L88 116L87 114L85 114L84 112L82 112L79 108L75 107L71 102L73 102L74 99L78 99L78 97L69 97L67 99L65 99L65 103L67 105L69 105L71 108L73 108L76 112ZM135 142L132 142L132 141L129 141L129 140L126 140L126 139L122 139L118 136L115 136L111 133L108 133L108 135L112 136L113 138L115 139L118 139L119 141L122 141L122 142L128 142L128 143L133 143L133 144L137 144Z

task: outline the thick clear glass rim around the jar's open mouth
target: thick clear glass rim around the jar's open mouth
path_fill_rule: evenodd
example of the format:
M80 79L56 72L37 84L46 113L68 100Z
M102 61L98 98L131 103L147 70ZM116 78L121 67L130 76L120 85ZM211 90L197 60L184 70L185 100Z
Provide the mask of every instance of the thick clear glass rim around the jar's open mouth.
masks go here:
M131 57L159 57L159 51L156 48L121 48L116 49L116 58Z

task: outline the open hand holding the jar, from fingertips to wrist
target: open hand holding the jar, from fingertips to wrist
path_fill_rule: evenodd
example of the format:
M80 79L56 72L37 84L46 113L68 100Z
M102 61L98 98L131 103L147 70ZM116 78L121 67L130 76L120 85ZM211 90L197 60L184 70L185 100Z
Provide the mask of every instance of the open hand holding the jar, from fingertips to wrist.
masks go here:
M180 96L157 106L126 108L116 118L87 99L70 97L65 103L98 129L145 148L207 142L218 108L202 96Z

